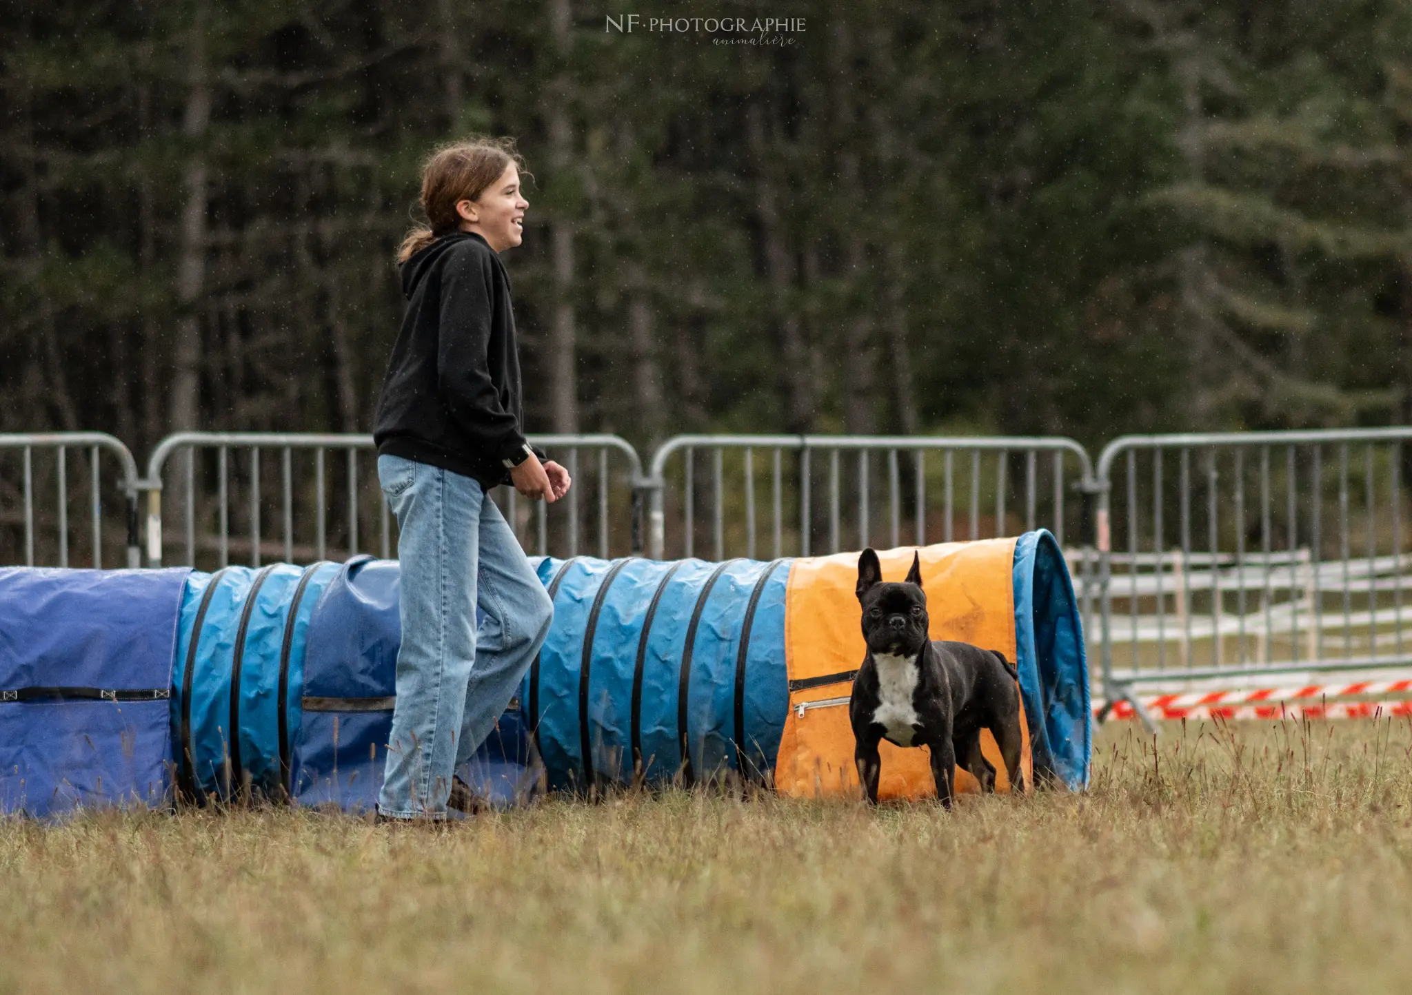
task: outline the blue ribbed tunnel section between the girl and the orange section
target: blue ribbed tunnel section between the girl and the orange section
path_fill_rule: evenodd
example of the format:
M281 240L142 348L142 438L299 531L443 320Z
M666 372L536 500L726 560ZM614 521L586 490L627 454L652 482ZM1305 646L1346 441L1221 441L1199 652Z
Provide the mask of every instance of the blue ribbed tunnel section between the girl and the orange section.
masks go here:
M555 618L522 697L552 789L774 771L788 560L545 559L538 572Z

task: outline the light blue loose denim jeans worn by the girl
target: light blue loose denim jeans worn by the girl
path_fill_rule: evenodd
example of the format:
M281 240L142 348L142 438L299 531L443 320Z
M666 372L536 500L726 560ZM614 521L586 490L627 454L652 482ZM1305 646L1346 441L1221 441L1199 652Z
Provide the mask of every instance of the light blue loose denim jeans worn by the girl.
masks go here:
M400 529L402 622L377 807L446 819L452 772L510 704L554 603L479 483L400 456L378 456L377 478Z

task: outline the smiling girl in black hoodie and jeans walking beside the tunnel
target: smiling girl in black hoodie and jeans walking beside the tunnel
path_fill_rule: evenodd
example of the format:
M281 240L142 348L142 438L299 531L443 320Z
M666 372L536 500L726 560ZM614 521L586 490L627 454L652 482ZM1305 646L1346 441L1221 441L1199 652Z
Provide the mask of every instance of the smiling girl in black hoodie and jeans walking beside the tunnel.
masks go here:
M515 318L498 257L522 239L521 167L508 138L438 148L422 167L431 226L412 229L397 254L407 310L373 432L400 529L402 622L380 821L470 809L453 772L494 728L554 617L486 494L513 483L531 500L556 501L570 483L524 438Z

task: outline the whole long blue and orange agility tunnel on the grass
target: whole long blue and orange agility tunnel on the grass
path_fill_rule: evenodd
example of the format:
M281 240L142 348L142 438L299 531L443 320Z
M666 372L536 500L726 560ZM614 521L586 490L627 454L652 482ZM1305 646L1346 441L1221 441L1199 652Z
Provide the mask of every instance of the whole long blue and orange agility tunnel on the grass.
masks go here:
M901 579L912 553L881 553L884 577ZM1058 543L1041 531L919 555L932 637L1015 661L1034 772L1084 786L1089 682ZM580 793L727 772L788 795L857 790L856 553L534 563L555 621L460 772L481 795L511 802L541 773ZM0 809L174 793L370 807L395 701L397 596L397 563L366 556L215 574L0 570ZM935 790L925 749L884 744L882 772L884 797Z

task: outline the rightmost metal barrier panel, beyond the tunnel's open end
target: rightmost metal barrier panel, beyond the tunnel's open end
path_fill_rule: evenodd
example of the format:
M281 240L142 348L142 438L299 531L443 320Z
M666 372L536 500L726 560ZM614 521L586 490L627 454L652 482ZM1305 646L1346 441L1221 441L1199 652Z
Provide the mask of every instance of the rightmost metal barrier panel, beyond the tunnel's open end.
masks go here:
M1135 686L1152 683L1412 665L1409 439L1412 428L1108 443L1097 466L1107 701L1137 704Z

